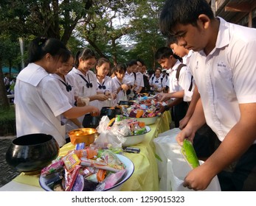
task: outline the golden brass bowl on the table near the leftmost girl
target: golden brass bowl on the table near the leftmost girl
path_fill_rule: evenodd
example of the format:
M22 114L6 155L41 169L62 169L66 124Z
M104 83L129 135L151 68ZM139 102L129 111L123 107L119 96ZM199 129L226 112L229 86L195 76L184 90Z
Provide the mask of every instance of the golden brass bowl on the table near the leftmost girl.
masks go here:
M95 138L98 136L97 129L94 128L79 128L73 129L68 132L70 142L75 145L77 143L85 143L86 146L89 146L91 143L94 143Z

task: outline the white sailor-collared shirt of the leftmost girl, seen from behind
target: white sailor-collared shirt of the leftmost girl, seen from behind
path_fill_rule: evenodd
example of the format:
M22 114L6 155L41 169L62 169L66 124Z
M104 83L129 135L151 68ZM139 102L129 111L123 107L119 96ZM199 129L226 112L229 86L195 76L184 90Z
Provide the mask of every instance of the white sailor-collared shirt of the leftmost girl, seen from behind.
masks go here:
M14 103L17 137L46 133L52 135L59 146L66 143L66 129L60 116L72 105L55 79L40 65L30 63L18 74Z

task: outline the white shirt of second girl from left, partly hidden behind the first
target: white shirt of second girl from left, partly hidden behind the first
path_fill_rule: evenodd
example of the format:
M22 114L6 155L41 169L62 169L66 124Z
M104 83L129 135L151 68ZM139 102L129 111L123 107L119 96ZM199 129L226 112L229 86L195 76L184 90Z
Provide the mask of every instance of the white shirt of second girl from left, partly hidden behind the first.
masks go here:
M75 86L74 86L75 79L74 79L74 77L72 77L72 75L70 75L70 74L66 74L65 80L64 80L58 74L49 74L49 75L58 82L60 89L69 98L69 104L71 104L74 107L75 106ZM76 124L74 124L69 119L65 118L63 115L61 115L61 121L63 122L63 124L66 124L66 132L69 132L72 129L78 128ZM66 133L66 138L69 138L67 133Z

